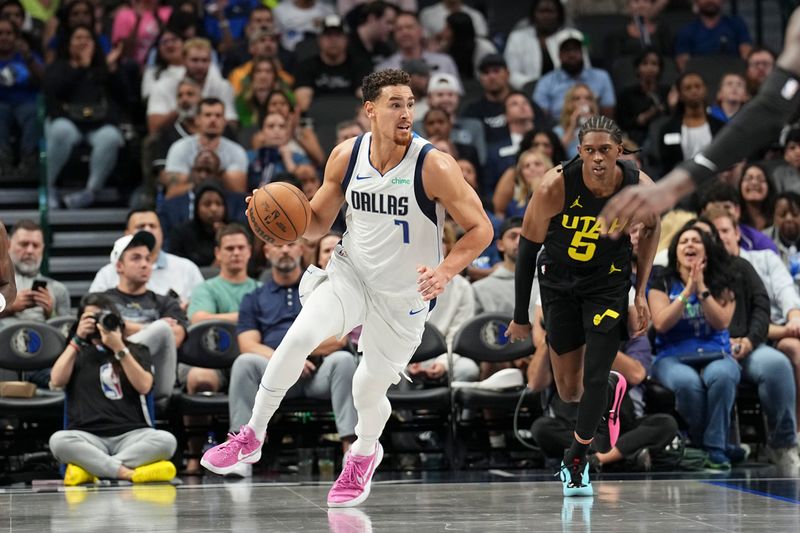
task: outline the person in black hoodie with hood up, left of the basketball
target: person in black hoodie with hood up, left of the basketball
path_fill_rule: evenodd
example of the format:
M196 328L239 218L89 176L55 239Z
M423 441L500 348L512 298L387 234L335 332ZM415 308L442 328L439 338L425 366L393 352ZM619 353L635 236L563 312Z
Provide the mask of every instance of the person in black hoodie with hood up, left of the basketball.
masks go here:
M167 249L199 267L215 260L216 233L228 222L225 192L215 182L199 184L194 190L193 217L172 228Z

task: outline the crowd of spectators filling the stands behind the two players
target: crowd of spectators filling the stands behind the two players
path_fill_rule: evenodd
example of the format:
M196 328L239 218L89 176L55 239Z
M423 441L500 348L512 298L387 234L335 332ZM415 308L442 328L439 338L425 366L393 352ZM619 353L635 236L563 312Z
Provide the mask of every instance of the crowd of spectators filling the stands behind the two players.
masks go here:
M90 293L103 297L83 301L58 374L31 379L66 387L70 402L85 401L77 399L76 380L88 378L83 366L70 366L75 354L91 352L102 365L97 347L108 341L111 351L122 350L124 340L135 365L122 362L125 356L112 361L115 394L164 397L176 378L189 392L228 388L232 430L249 417L270 354L299 311L303 267L324 266L336 242L332 235L262 246L239 225L243 199L255 187L288 181L309 198L319 188L332 140L323 139L322 125L311 119L315 102L352 98L352 116L335 125L341 142L369 129L355 105L363 76L406 70L417 99L415 131L452 155L481 196L497 240L453 280L432 317L449 344L470 316L510 314L519 217L544 172L578 154L577 132L589 116L615 118L626 134L626 157L658 179L706 146L747 105L775 62L772 51L753 45L747 25L727 14L723 0L532 0L529 16L505 33L487 23L485 2L461 0L28 4L37 2L0 2L0 175L33 176L43 138L51 209L92 206L109 183L120 185L114 171L126 150L135 152L126 161L140 163L126 175L141 179L123 189L142 191L132 195L138 204L131 206L125 234L91 285ZM590 41L589 29L582 32L577 22L616 13L619 6L611 4L625 4L629 21L609 30L603 42ZM661 17L672 9L693 9L694 17L675 27ZM721 61L727 65L738 61L739 68L693 70L693 60L703 56L734 60ZM34 119L40 106L42 131ZM741 449L727 441L740 381L759 390L772 460L800 468L800 125L771 141L756 159L725 169L681 206L694 213L682 221L701 214L705 221L664 224L663 270L654 274L649 295L652 351L649 340L640 339L644 348L624 346L618 357L630 383L651 375L674 391L688 440L719 468L741 459ZM75 176L66 179L62 171L81 146L89 148L88 173L77 190L69 189L64 184L74 186ZM344 229L343 217L334 228ZM23 221L9 234L20 292L0 323L70 314L64 286L39 274L41 228ZM459 228L448 224L445 245L458 237ZM219 275L204 281L198 267L216 267ZM87 307L116 312L124 339L101 330L102 343L88 341ZM242 355L232 371L176 369L189 323L214 318L237 322ZM291 391L332 400L345 449L355 425L353 347L357 333L350 343L324 343L309 354L304 377ZM700 349L711 355L683 360ZM538 338L535 354L508 366L526 372L532 388L545 389L552 381L546 351ZM498 370L456 355L414 366L409 374L436 380L451 363L459 380ZM767 379L770 372L780 373L780 382ZM105 398L113 400L109 394ZM569 405L549 412L574 416ZM120 427L103 428L103 436L139 431L148 425L140 415L127 409L118 417ZM633 416L631 427L646 429L645 438L598 456L595 467L662 446L666 433L674 433L671 419L645 421L642 409ZM76 416L67 429L91 433L92 423ZM556 426L540 424L537 431ZM490 435L492 445L504 446L502 437ZM130 479L136 468L174 449L163 436L151 438L150 455L128 453L132 458L122 465L72 453L75 435L59 435L52 444L59 458L82 461L89 474L73 469L75 479ZM196 442L190 451L196 454ZM189 456L186 469L197 472L196 455Z

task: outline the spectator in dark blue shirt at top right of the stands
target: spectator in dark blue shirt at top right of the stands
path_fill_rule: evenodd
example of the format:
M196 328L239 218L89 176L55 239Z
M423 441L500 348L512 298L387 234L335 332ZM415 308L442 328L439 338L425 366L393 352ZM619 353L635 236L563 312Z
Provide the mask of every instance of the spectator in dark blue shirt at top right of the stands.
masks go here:
M692 56L731 55L747 59L753 39L738 15L722 13L723 0L694 0L697 17L678 30L675 62L683 70Z

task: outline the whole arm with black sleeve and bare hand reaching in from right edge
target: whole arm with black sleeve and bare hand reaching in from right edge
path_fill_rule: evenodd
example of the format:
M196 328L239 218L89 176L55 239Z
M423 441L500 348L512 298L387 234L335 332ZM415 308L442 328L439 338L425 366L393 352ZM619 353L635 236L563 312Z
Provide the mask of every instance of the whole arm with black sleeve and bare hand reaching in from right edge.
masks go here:
M796 121L800 111L800 7L789 18L784 43L775 68L756 97L707 147L675 167L653 190L634 186L621 191L606 204L601 217L608 220L634 214L660 215L719 172L774 142L783 125Z

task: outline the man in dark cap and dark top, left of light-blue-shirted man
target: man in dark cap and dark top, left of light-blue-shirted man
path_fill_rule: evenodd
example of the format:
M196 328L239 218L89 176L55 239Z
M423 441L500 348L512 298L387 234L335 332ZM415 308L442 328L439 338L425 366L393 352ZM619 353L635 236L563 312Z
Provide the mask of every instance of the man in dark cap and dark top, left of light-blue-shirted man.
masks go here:
M478 64L478 73L483 96L468 104L461 116L483 123L486 144L501 142L509 135L504 104L512 91L508 65L500 54L489 54ZM552 121L536 104L533 106L533 120L536 129L549 130L552 127Z

